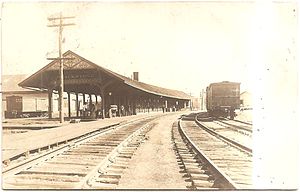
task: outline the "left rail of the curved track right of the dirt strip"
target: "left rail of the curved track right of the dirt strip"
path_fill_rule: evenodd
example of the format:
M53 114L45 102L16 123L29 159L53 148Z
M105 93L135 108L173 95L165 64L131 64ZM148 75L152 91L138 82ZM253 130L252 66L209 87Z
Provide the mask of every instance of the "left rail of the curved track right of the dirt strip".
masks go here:
M191 140L191 138L183 130L181 121L181 119L179 119L178 121L179 132L189 142L193 151L200 156L202 161L205 162L205 164L208 166L207 168L211 171L211 173L216 178L216 181L221 185L221 187L224 189L238 189L234 181L232 181L232 179L228 175L226 175L222 170L220 170Z

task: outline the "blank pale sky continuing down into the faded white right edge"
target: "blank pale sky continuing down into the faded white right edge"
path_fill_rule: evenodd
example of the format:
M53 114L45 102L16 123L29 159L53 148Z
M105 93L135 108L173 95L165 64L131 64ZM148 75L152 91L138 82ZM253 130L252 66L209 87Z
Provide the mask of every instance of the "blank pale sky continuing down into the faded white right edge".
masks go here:
M210 83L241 82L253 96L259 188L299 186L297 1L5 2L2 74L33 74L58 56L47 18L75 16L63 51L142 82L194 96ZM296 166L298 165L298 167ZM298 170L295 171L295 170Z

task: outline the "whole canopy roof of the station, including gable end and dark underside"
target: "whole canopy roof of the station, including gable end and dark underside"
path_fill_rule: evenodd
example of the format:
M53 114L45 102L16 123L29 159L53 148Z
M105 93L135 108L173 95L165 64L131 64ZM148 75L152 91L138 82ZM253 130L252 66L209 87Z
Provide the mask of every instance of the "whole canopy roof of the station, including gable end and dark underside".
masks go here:
M100 89L123 93L150 93L176 99L189 100L191 97L182 91L166 89L132 80L67 51L64 61L64 90L67 92L100 93ZM59 87L59 61L52 61L27 79L19 83L24 88L54 89Z

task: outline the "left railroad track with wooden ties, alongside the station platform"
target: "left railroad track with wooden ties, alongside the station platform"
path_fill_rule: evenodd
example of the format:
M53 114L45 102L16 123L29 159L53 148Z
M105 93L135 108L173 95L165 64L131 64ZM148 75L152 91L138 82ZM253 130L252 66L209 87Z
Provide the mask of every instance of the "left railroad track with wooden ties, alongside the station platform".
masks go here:
M150 117L68 142L2 171L4 189L112 189L152 126Z

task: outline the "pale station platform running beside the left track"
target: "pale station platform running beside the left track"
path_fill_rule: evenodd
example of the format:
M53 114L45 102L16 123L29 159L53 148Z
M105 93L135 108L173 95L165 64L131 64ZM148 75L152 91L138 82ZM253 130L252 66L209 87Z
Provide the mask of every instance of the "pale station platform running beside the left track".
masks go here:
M2 134L2 161L27 151L52 145L53 143L66 141L77 136L92 132L99 128L124 124L126 122L142 119L150 116L161 116L162 112L142 113L133 116L97 119L89 122L69 123L65 122L57 127L38 129L15 134ZM167 114L167 113L164 113ZM51 125L55 125L51 123ZM18 126L18 125L14 125ZM28 127L49 126L49 124L30 124ZM20 126L19 126L20 127ZM22 125L26 129L26 125ZM2 130L3 131L3 130Z

